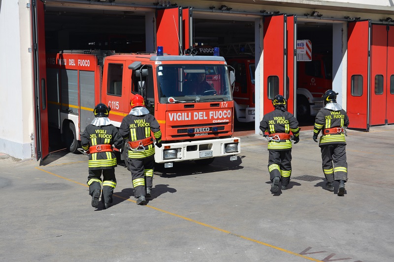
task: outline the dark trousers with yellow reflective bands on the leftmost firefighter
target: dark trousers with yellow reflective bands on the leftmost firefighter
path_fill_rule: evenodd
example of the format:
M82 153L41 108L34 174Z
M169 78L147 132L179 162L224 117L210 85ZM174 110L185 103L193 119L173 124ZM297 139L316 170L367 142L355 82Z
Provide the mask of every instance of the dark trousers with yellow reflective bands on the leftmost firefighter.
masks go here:
M115 168L89 169L87 182L89 186L89 195L92 196L95 189L101 191L101 173L103 176L101 201L104 199L104 203L110 204L112 203L112 194L116 187Z

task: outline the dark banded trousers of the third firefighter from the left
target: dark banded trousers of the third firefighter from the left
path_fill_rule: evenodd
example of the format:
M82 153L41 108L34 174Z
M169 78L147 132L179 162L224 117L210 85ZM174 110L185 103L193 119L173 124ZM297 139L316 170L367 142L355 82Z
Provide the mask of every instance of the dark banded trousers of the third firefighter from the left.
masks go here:
M268 150L268 152L269 179L272 181L278 176L282 180L282 185L287 186L292 175L292 149Z

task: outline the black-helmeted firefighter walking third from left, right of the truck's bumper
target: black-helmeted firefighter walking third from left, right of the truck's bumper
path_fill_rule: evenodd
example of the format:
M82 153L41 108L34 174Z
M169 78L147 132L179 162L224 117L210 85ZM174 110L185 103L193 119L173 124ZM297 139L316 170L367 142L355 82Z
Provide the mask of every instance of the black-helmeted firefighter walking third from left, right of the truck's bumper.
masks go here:
M292 141L299 142L298 121L293 114L286 111L286 99L277 95L272 99L274 111L263 116L260 130L268 132L268 171L272 181L271 191L277 193L282 180L282 190L286 190L292 175Z

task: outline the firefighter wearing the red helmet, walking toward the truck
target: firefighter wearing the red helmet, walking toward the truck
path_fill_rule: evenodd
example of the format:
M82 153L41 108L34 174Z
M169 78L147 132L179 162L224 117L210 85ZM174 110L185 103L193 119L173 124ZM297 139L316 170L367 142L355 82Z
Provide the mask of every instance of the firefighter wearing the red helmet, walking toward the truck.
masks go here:
M131 99L131 111L125 116L119 127L121 136L128 140L128 161L131 171L134 197L137 204L146 203L145 197L151 197L153 168L155 165L155 145L162 147L162 132L159 122L149 114L144 98L136 94Z

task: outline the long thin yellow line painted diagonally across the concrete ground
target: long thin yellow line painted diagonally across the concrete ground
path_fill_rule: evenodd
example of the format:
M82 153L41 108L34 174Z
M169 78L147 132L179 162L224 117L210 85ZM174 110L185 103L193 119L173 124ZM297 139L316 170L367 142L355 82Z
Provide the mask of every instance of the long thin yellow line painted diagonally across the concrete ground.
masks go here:
M41 168L37 168L37 167L36 167L36 169L38 169L38 170L40 170L40 171L42 171L42 172L48 173L48 174L50 174L50 175L54 175L54 176L57 176L57 177L66 179L67 181L74 182L74 183L76 183L76 184L79 184L79 185L83 185L83 186L89 187L89 186L86 185L86 184L79 183L79 182L77 182L77 181L74 181L74 180L72 180L72 179L66 178L66 177L61 176L61 175L56 175L56 174L54 174L54 173L52 173L52 172L43 170L43 169L41 169ZM131 199L124 198L124 197L121 197L121 196L118 196L118 195L116 195L115 193L113 194L113 196L114 196L114 197L117 197L117 198L120 198L120 199L123 199L123 200L127 200L127 201L129 201L129 202L136 203L136 201L133 201L133 200L131 200ZM198 225L201 225L201 226L204 226L204 227L207 227L207 228L210 228L210 229L214 229L214 230L217 230L217 231L220 231L220 232L223 232L223 233L227 233L227 234L230 234L230 235L233 235L233 236L236 236L236 237L245 239L245 240L249 240L249 241L252 241L252 242L261 244L261 245L263 245L263 246L270 247L270 248L273 248L273 249L276 249L276 250L279 250L279 251L282 251L282 252L285 252L285 253L288 253L288 254L291 254L291 255L294 255L294 256L303 258L303 259L306 259L306 260L315 261L315 262L322 262L321 260L309 258L309 257L303 256L303 255L297 254L297 253L295 253L295 252L292 252L292 251L290 251L290 250L283 249L283 248L280 248L280 247L277 247L277 246L273 246L273 245L264 243L264 242L262 242L262 241L259 241L259 240L256 240L256 239L253 239L253 238L250 238L250 237L247 237L247 236L243 236L243 235L236 234L236 233L231 233L230 231L227 231L227 230L224 230L224 229L221 229L221 228L217 228L217 227L214 227L214 226L211 226L211 225L208 225L208 224L205 224L205 223L199 222L199 221L197 221L197 220L194 220L194 219L191 219L191 218L188 218L188 217L184 217L184 216L181 216L181 215L178 215L178 214L175 214L175 213L171 213L171 212L169 212L169 211L165 211L165 210L163 210L163 209L154 207L154 206L152 206L152 205L145 205L145 206L146 206L146 207L149 207L149 208L152 208L152 209L155 209L155 210L157 210L157 211L163 212L163 213L165 213L165 214L168 214L168 215L171 215L171 216L175 216L175 217L178 217L178 218L181 218L181 219L184 219L184 220L187 220L187 221L196 223L196 224L198 224Z

